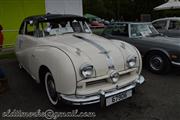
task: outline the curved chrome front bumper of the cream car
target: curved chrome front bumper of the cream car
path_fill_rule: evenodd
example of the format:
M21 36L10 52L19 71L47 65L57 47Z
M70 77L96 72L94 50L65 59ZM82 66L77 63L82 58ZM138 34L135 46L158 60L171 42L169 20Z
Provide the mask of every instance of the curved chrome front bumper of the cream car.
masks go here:
M103 91L99 90L98 93L94 95L88 95L88 96L81 96L77 97L76 95L63 95L59 94L59 97L62 98L63 101L68 102L73 105L88 105L88 104L94 104L94 103L101 103L104 104L104 101L106 98L128 91L132 90L136 87L137 84L142 84L144 82L144 77L139 76L138 79L134 80L132 83L129 83L128 85L119 88L118 86L114 89Z

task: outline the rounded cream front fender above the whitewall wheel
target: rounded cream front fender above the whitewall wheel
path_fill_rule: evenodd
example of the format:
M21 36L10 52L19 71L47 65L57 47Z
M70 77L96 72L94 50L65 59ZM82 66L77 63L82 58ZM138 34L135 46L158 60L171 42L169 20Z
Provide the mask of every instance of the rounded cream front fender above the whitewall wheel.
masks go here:
M65 51L54 46L40 46L34 50L34 54L37 61L36 77L39 76L40 66L46 66L53 75L58 93L75 94L77 81L75 66Z

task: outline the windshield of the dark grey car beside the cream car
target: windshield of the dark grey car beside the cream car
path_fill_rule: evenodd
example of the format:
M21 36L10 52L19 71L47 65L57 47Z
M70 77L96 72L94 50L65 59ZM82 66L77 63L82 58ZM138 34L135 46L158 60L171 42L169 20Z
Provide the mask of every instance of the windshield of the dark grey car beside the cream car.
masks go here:
M131 24L131 37L149 37L160 35L152 24Z

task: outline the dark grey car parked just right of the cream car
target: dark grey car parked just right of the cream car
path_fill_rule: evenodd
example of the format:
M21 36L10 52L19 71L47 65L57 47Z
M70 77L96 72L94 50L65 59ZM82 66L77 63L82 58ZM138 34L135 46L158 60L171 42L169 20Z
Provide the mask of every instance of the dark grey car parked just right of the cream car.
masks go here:
M165 37L151 23L118 22L102 33L136 46L147 68L154 73L167 73L172 65L180 66L180 40Z

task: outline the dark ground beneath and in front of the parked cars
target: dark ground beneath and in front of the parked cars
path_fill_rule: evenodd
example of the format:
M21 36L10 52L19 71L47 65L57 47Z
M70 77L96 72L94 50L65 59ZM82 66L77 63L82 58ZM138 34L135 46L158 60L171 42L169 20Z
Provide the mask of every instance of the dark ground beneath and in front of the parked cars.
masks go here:
M167 75L156 75L143 70L142 74L146 82L136 89L133 97L102 109L99 104L61 105L59 108L54 108L49 104L44 88L36 84L24 70L20 70L16 60L1 60L0 67L7 73L10 86L9 91L0 96L0 120L23 119L2 117L2 113L8 109L22 110L23 112L35 112L38 109L41 111L53 110L54 112L71 112L73 110L94 112L96 117L86 119L95 120L180 119L180 70L178 69ZM26 119L34 120L34 118ZM37 120L44 119L37 118Z

